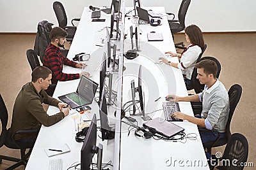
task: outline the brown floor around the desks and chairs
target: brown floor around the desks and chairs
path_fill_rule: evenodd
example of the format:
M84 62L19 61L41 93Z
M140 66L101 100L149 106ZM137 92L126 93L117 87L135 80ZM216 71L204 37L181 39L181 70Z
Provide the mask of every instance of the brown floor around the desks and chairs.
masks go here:
M221 63L220 81L228 90L233 84L243 87L243 94L237 105L231 122L231 132L244 134L249 143L248 162L256 166L255 143L255 82L256 82L256 33L208 33L204 34L207 49L204 56L214 56ZM31 80L31 68L26 59L26 50L33 48L35 34L0 34L0 93L6 104L10 127L12 108L22 85ZM185 41L184 34L175 36L175 42ZM1 128L1 127L0 127ZM212 150L223 152L225 147ZM0 148L0 154L19 157L19 151L13 151L5 146ZM12 165L3 160L0 169ZM19 167L17 169L24 169ZM246 167L245 169L253 169ZM255 168L254 168L255 169Z

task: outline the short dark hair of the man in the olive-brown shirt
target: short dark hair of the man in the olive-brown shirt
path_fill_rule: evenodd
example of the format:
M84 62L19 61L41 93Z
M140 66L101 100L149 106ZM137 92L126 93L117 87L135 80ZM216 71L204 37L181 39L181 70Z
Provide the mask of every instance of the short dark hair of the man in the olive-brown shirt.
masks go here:
M31 76L32 76L31 81L33 81L33 83L35 83L38 80L38 78L42 78L45 80L45 78L47 78L49 76L49 74L52 74L51 69L49 69L45 66L38 66L31 73Z

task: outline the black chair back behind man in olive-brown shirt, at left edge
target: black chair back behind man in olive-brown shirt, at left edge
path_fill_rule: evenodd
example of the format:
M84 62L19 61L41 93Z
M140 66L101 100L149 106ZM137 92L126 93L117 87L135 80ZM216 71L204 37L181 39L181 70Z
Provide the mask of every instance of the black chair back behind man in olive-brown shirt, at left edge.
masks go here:
M3 97L0 94L0 120L2 124L2 131L0 135L0 147L4 145L5 139L6 139L6 134L7 134L7 129L6 125L8 122L8 112L6 109L6 106L4 104Z

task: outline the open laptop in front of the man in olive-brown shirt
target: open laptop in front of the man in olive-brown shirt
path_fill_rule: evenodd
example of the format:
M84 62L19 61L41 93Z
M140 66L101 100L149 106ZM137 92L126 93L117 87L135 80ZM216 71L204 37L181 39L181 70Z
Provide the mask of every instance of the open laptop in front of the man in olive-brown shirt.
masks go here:
M70 108L78 108L80 106L92 104L97 87L97 83L83 75L76 92L65 94L58 98L64 103L69 104Z

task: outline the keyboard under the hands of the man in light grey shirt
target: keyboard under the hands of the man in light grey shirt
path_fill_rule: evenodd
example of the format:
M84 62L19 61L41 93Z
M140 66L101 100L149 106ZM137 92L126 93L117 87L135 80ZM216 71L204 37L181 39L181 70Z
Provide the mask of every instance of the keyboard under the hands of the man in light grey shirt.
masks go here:
M163 102L163 110L164 110L164 117L167 121L182 121L179 118L172 118L172 114L176 111L180 111L177 108L177 104L175 102Z

